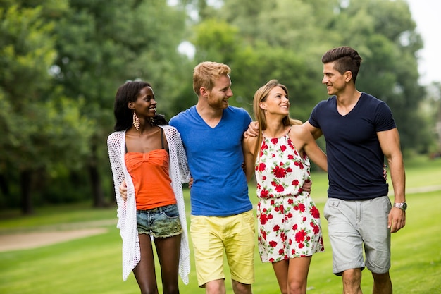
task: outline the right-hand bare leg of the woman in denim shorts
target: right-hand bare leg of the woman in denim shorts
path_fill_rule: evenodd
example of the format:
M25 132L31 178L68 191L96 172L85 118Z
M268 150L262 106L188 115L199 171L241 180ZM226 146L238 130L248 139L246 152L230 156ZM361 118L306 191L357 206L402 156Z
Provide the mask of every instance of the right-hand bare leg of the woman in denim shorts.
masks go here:
M178 272L181 235L155 238L156 252L161 264L161 279L164 294L178 294Z

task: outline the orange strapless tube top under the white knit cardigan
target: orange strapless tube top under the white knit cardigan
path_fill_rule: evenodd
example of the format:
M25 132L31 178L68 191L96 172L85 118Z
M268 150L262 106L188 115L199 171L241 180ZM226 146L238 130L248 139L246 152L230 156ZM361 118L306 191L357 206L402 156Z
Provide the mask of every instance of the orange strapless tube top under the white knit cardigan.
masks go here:
M125 165L135 185L137 210L176 203L168 174L168 152L165 149L147 153L128 152L125 154Z

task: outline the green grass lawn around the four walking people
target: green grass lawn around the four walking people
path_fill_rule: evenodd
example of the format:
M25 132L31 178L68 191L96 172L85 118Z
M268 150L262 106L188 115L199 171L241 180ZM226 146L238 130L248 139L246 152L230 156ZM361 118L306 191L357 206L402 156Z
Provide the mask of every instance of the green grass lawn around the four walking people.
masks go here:
M441 185L441 159L406 162L407 188ZM326 174L313 174L313 198L323 212ZM441 293L441 216L440 191L408 194L406 227L392 235L392 283L399 294ZM188 202L188 191L185 193ZM256 203L255 189L250 188ZM187 209L189 205L187 204ZM114 219L101 223L107 233L71 240L30 250L0 252L0 293L8 294L87 294L139 293L135 278L121 278L121 242L116 225L116 210L89 209L85 205L46 207L34 216L20 217L15 212L1 212L0 234L42 229L60 229L63 224L83 227L86 221ZM325 252L313 256L309 271L308 293L342 293L341 278L332 270L327 223L322 217ZM273 269L262 264L255 252L256 282L254 293L279 293ZM232 293L227 274L227 293ZM362 288L371 293L372 278L363 271ZM180 281L180 293L204 293L197 287L192 260L190 284Z

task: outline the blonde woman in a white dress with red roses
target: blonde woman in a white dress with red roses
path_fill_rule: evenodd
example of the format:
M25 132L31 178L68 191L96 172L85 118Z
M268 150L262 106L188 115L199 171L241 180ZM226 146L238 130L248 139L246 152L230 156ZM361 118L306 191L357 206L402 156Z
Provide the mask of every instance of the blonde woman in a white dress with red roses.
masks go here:
M325 153L300 121L290 119L285 85L270 80L254 94L259 135L243 141L247 178L257 182L258 245L262 262L271 262L281 293L306 293L309 264L321 252L320 213L309 192L312 159L328 170Z

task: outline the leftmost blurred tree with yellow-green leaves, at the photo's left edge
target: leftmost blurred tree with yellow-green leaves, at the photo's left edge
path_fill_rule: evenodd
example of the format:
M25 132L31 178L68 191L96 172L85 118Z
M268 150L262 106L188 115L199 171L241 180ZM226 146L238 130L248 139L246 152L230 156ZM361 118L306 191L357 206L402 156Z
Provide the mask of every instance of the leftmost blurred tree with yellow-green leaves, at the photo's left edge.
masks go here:
M77 104L51 87L54 23L46 23L44 13L42 6L0 8L0 148L6 151L0 154L1 190L8 193L8 183L18 179L25 214L33 210L37 177L55 164L75 166L70 154L80 158L87 153L91 128Z

